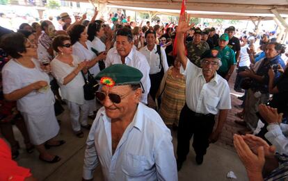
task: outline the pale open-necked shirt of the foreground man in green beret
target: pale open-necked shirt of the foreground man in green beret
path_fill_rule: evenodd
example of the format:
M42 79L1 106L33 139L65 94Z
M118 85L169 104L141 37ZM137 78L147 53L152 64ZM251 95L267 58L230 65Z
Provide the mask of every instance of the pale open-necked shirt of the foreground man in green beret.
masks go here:
M84 179L93 178L101 164L105 180L177 180L170 130L155 110L142 103L113 155L111 119L104 107L97 112L86 144Z

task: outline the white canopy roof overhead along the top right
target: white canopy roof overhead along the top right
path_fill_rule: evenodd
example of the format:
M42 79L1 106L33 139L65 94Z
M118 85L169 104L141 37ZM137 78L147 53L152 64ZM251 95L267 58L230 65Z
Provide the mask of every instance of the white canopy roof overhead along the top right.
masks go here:
M122 8L150 12L150 15L179 15L182 0L81 0L97 4L100 10L107 12L109 8ZM108 9L106 9L108 8ZM285 33L287 39L288 18L287 0L187 0L186 10L192 17L251 20L257 29L259 22L273 19Z

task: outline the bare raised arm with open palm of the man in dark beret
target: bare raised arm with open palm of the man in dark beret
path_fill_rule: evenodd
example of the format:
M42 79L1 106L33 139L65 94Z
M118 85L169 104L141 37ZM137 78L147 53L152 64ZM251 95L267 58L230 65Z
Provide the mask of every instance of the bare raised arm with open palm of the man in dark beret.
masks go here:
M190 28L194 26L194 24L189 25L190 17L187 17L187 14L185 12L184 15L180 15L179 17L179 24L177 27L177 55L179 57L179 60L182 64L182 67L186 69L187 64L187 58L185 55L185 45L184 45L184 35L187 31L189 31Z

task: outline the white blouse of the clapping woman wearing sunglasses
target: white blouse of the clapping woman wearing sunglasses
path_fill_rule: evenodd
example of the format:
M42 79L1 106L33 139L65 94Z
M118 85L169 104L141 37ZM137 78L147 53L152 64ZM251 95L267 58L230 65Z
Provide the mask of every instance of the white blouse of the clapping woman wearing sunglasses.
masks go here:
M51 61L50 65L52 69L52 74L56 78L58 85L60 86L62 98L66 99L67 101L82 105L84 103L83 85L85 84L85 82L81 72L79 72L79 74L77 74L77 76L75 76L70 81L70 83L63 85L64 78L71 74L71 72L77 68L80 62L81 60L79 60L77 56L73 55L72 64L74 65L74 67L71 67L69 64L61 62L57 58L54 58L54 60Z

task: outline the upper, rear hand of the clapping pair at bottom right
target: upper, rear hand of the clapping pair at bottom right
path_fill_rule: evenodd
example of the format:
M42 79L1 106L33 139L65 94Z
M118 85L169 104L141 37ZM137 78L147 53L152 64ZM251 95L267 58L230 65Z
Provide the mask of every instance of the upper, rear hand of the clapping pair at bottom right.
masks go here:
M249 148L252 150L254 154L257 155L257 148L259 148L259 146L263 146L265 157L266 158L274 157L275 146L269 146L269 144L267 144L267 142L261 137L256 137L255 135L250 134L243 135L241 137L244 139L246 144L248 144Z

